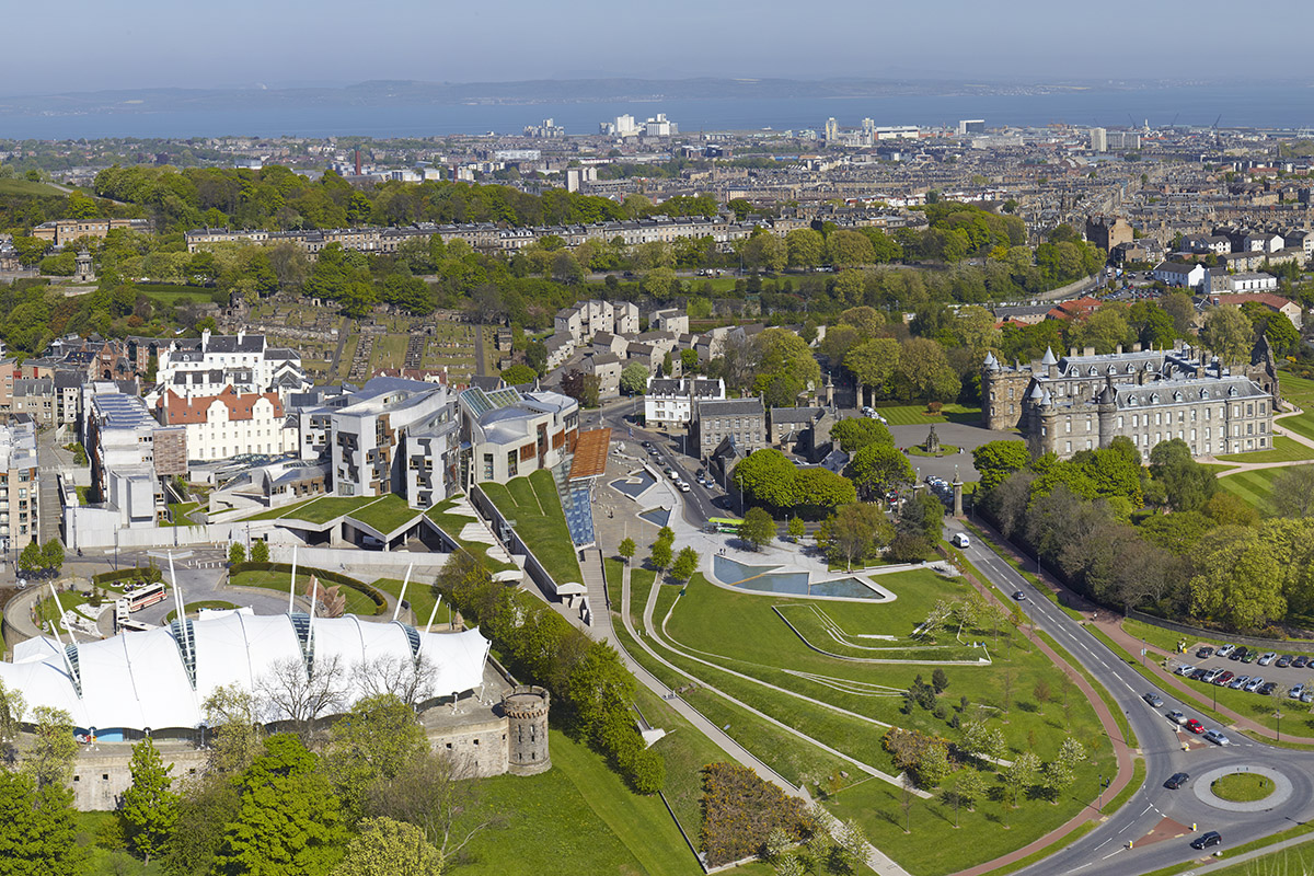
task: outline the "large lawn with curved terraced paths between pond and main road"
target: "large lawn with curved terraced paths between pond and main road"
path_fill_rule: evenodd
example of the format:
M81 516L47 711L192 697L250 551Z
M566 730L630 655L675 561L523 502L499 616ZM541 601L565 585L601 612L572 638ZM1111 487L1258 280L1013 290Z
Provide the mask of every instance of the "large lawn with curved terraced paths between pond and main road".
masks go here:
M631 604L618 607L628 609L640 626L652 577L650 571L635 570ZM660 586L653 628L644 632L644 640L664 659L700 682L694 690L682 691L686 701L717 725L728 726L736 741L786 779L807 784L834 814L854 818L872 844L918 876L983 863L1080 812L1096 795L1100 764L1108 771L1112 763L1112 746L1089 704L1064 684L1053 663L1007 620L996 624L987 619L963 633L967 642L986 644L984 651L993 661L989 666L865 665L808 649L777 611L784 604L790 607L788 615L820 612L855 642L871 641L861 637L874 636L908 642L938 600L962 599L968 592L962 580L930 571L882 575L879 582L899 599L863 604L752 595L715 587L695 575L683 596L677 587ZM735 623L727 624L728 617ZM820 628L830 629L824 623ZM949 644L950 653L959 651L955 657L982 654L958 646L955 632L957 628L941 632L937 642ZM686 675L658 663L619 625L618 638L666 684L689 688ZM908 655L921 654L909 649ZM903 691L918 675L929 679L937 666L945 671L947 686L937 697L936 709L913 705L905 712ZM983 777L989 792L978 801L975 812L955 812L953 804L934 795L929 800L915 797L905 813L897 785L865 775L867 770L899 772L882 746L886 725L953 739L958 737L954 729L958 721L975 718L1001 730L1012 753L1034 749L1047 760L1071 733L1085 742L1091 756L1079 764L1076 783L1059 795L1056 805L1025 800L1017 808L1005 806L997 777L987 768ZM904 833L905 814L912 823L911 834ZM963 833L954 843L945 843L943 829L955 818Z

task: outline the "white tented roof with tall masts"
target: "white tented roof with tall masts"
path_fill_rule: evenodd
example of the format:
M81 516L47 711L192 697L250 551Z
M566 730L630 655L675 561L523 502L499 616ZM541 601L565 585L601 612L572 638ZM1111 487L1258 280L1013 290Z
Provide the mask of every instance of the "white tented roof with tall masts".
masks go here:
M348 707L361 699L351 670L376 661L432 666L435 697L477 688L489 641L478 629L423 633L414 626L361 621L353 615L255 615L251 609L205 611L185 625L176 620L147 632L60 645L33 638L14 647L14 662L0 662L0 680L22 693L28 709L49 705L68 712L83 729L192 729L201 704L225 684L254 691L286 661L302 665L339 657Z

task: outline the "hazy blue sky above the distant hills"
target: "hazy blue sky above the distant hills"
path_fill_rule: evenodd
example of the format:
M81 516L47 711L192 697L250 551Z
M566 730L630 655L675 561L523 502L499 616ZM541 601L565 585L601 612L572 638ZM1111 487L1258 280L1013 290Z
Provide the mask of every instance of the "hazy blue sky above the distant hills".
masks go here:
M0 93L593 75L1310 77L1314 11L1282 4L1251 25L1246 9L1221 0L16 3L5 9Z

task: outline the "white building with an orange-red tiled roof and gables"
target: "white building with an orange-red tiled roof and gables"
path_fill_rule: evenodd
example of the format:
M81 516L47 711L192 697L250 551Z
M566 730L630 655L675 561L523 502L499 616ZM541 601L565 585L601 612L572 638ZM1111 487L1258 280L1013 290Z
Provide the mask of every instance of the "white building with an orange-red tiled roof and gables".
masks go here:
M185 398L164 390L156 408L164 426L187 429L189 460L297 452L296 423L284 418L277 393L243 394L229 386L217 395Z

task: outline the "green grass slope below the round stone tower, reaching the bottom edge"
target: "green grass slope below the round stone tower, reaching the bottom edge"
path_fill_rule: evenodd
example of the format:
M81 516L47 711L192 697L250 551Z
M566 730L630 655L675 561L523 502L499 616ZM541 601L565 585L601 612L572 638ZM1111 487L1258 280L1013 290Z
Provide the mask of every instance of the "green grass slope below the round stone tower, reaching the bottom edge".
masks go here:
M459 867L469 876L687 876L698 862L657 796L629 792L593 751L557 730L552 770L473 784L499 825L478 834ZM482 814L482 812L481 812ZM766 875L759 865L740 872Z

